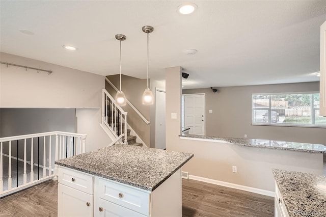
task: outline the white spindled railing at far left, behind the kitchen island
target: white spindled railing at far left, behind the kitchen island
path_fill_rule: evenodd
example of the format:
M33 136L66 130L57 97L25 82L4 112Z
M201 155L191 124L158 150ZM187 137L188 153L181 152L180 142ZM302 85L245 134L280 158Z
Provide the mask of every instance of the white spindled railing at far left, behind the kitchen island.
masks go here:
M0 138L0 198L58 179L55 160L85 153L86 134L42 132Z

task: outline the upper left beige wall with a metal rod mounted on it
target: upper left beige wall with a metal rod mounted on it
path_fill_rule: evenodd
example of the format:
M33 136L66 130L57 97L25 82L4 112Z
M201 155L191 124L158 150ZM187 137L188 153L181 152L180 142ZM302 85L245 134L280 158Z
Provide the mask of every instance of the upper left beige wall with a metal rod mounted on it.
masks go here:
M101 107L104 76L3 52L0 60L53 71L0 64L0 107Z

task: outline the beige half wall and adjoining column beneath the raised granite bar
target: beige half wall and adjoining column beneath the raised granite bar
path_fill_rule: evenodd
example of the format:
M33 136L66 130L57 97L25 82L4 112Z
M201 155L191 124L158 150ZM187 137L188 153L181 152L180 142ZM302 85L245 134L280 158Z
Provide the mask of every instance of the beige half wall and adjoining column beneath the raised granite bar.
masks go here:
M193 153L183 167L189 175L274 191L272 168L322 175L322 154L183 140L180 134L181 70L166 69L167 150ZM177 113L177 119L171 119ZM232 166L238 172L232 173Z

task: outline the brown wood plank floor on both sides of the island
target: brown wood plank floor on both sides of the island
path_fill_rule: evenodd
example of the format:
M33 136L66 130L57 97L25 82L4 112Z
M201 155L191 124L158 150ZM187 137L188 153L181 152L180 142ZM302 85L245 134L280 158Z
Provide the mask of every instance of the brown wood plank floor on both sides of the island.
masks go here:
M2 198L0 216L57 216L57 189L47 181ZM182 179L182 216L274 216L274 198Z

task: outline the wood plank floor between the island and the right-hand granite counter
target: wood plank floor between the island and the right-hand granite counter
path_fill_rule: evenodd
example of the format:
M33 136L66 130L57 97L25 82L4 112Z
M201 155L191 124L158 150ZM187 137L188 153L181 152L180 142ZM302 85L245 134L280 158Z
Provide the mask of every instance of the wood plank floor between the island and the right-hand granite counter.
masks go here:
M182 216L274 216L274 198L184 179Z

